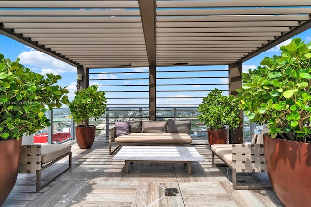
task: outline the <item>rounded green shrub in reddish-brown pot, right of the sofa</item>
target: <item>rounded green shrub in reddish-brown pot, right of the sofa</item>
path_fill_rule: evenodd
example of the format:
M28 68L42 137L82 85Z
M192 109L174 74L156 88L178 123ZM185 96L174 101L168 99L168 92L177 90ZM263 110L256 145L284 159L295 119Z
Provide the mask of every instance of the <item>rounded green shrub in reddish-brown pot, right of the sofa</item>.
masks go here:
M224 96L222 91L215 88L199 105L201 112L199 119L207 126L208 143L226 144L228 143L229 129L236 129L240 119L239 100L233 95Z

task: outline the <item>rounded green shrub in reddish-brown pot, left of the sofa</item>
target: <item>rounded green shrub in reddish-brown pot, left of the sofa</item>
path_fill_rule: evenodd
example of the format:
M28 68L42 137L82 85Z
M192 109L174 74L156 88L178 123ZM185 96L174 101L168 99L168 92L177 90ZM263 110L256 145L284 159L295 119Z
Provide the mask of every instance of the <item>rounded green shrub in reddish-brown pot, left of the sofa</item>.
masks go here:
M106 112L105 92L97 89L93 85L76 91L74 99L68 103L73 122L79 124L76 126L76 139L81 149L90 148L95 140L96 126L88 124L90 119L96 120Z

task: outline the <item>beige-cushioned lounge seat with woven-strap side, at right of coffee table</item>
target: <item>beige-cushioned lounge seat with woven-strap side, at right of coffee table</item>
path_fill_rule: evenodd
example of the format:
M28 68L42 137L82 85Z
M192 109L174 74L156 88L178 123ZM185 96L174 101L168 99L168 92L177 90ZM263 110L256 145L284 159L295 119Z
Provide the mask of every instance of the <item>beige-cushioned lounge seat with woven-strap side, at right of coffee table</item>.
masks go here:
M213 144L212 166L216 166L215 155L232 169L232 187L235 189L271 189L271 186L237 185L237 173L266 172L263 148L263 134L269 129L264 127L259 136L254 135L252 143Z

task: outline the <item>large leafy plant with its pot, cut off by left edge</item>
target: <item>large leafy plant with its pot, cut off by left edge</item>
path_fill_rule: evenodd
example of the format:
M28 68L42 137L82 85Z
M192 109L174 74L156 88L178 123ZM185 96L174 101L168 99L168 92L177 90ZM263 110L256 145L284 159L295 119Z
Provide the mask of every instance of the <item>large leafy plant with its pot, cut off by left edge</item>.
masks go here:
M31 71L0 54L0 184L1 204L11 192L19 171L22 135L50 126L47 109L68 102L68 90L55 85L60 75Z

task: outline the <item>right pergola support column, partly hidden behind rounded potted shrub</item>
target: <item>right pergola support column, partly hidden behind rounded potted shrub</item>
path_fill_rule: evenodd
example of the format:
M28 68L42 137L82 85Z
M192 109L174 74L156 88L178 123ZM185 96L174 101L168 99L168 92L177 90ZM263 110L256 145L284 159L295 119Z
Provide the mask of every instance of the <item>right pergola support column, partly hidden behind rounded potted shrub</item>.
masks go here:
M235 91L242 86L242 63L229 64L229 95L236 96ZM240 118L243 120L243 111L240 111ZM243 121L240 122L236 130L230 130L229 142L232 144L243 143Z

